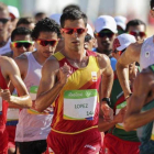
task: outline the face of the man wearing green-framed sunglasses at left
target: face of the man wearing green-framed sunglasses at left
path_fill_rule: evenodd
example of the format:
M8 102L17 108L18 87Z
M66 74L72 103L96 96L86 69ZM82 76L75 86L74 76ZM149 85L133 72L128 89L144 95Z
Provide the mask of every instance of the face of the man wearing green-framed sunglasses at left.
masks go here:
M15 35L13 42L15 41L32 41L30 35ZM20 56L21 54L25 53L25 52L33 52L34 51L34 45L32 44L30 47L25 47L24 45L22 45L21 47L14 47L11 44L11 50L13 51L13 55L14 57Z

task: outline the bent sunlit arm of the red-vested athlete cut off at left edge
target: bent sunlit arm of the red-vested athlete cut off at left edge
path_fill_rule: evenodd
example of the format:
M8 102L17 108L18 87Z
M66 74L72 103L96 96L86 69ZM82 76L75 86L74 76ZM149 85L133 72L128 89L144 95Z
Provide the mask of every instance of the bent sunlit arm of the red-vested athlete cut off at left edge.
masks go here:
M11 96L9 89L1 89L1 97L9 103L16 105L22 108L32 107L32 100L21 79L19 67L13 59L6 58L6 63L2 66L2 73L4 74L6 79L9 78L9 80L11 80L20 97Z

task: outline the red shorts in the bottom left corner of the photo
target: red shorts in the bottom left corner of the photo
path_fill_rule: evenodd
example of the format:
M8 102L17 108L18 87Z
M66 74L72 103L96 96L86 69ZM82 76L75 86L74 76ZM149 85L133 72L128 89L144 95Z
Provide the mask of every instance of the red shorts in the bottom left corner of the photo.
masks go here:
M0 154L8 154L8 133L7 130L0 131Z

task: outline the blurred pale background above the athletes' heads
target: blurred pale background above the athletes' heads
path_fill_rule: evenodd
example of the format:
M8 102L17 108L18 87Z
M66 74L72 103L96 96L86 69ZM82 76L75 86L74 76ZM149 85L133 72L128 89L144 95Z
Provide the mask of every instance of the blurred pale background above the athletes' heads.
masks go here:
M150 15L150 0L0 0L19 9L21 16L34 16L45 12L48 16L62 13L68 4L78 4L94 23L97 16L109 14L123 15L128 20L140 19L147 24L147 35L154 33L154 19Z

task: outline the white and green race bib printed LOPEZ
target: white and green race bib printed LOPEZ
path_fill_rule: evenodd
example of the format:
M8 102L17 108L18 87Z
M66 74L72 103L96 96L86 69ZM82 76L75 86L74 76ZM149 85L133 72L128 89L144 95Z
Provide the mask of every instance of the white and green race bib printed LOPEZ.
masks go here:
M67 90L64 92L65 120L94 120L97 90Z

